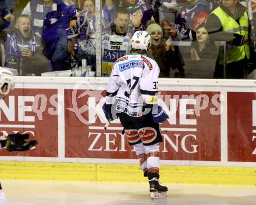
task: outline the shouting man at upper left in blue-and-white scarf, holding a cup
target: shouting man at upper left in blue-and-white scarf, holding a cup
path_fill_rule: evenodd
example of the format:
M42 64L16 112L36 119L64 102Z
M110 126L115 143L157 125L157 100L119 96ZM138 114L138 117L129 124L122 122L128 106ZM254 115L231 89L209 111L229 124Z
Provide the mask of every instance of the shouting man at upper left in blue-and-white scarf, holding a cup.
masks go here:
M20 15L13 30L6 30L5 66L17 69L19 75L41 75L47 58L42 54L41 38L31 31L31 20Z

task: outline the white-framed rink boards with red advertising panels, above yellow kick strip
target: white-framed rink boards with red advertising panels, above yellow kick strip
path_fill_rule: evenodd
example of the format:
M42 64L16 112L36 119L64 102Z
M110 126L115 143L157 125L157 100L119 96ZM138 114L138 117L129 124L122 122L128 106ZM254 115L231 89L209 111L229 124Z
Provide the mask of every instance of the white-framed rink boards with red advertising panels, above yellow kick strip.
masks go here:
M1 160L138 163L119 119L104 130L108 79L18 79L0 101L0 136L30 133L38 144L27 152L2 149ZM255 167L255 82L161 80L158 104L169 116L160 125L162 164Z

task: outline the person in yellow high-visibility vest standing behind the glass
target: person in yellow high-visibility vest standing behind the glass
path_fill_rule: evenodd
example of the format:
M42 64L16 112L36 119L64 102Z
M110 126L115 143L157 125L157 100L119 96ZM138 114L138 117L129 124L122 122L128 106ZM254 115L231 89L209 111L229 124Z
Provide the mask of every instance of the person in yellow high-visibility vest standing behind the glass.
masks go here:
M208 17L207 31L212 41L226 42L226 58L223 58L223 47L219 52L215 68L215 78L244 78L250 58L248 38L250 34L246 7L239 0L222 0L220 6ZM223 59L226 60L226 71L223 76Z

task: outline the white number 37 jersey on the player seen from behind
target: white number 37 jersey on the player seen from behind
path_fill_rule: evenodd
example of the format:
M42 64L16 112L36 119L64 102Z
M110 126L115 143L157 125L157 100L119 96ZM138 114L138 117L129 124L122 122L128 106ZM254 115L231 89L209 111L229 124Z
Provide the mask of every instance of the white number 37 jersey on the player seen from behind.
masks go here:
M143 105L158 103L157 62L141 54L119 58L113 65L106 93L106 104L117 112L139 117Z

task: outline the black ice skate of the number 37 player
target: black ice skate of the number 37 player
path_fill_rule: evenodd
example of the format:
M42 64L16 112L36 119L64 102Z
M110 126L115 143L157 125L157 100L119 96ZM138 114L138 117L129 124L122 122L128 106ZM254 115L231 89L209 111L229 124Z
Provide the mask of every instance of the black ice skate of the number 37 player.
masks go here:
M159 174L148 173L148 180L150 183L151 199L159 199L167 196L168 188L162 186L158 181Z

